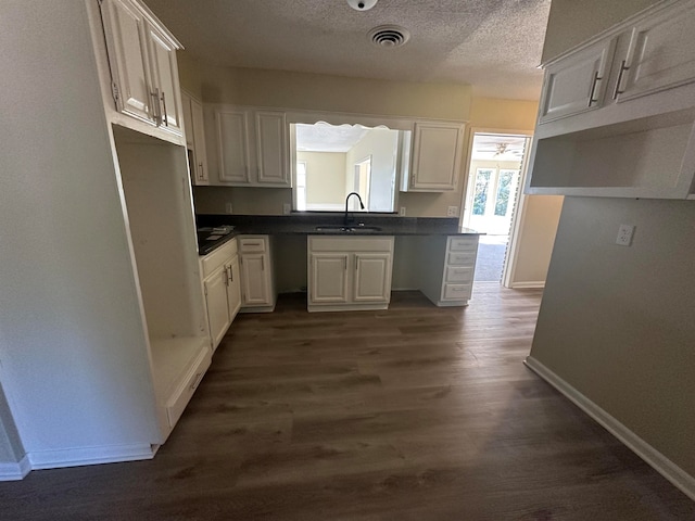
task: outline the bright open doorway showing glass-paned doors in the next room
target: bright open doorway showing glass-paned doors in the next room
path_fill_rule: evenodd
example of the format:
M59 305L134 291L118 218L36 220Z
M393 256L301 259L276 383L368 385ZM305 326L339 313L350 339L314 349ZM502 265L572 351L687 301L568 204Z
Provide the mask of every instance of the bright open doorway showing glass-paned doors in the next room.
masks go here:
M463 226L480 237L473 279L503 282L531 136L473 131Z

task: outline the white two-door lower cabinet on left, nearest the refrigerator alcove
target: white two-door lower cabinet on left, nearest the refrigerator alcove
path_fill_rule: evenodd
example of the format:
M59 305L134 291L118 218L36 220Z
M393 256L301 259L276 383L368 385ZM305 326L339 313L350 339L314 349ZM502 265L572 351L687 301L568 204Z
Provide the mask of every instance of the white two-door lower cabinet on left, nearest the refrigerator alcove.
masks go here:
M237 240L232 239L201 259L207 326L217 348L241 307L241 277Z

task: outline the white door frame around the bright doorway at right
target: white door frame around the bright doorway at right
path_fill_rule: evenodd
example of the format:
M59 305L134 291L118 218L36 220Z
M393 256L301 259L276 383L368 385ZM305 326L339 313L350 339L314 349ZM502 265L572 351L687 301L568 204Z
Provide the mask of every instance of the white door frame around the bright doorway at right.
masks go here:
M519 196L517 198L514 215L511 216L511 227L509 229L509 242L507 243L507 254L505 255L504 265L502 267L502 285L510 288L511 281L517 267L517 257L519 254L519 243L522 241L521 225L526 219L526 198L523 187L526 186L526 176L529 169L529 156L531 154L531 139L533 130L519 130L508 128L489 128L489 127L470 127L468 134L468 157L466 160L466 176L463 189L460 221L463 223L466 215L466 203L468 201L468 188L470 187L470 165L473 156L473 139L476 134L496 134L501 136L522 136L528 138L526 149L523 151L523 161L521 163L521 171L519 174Z

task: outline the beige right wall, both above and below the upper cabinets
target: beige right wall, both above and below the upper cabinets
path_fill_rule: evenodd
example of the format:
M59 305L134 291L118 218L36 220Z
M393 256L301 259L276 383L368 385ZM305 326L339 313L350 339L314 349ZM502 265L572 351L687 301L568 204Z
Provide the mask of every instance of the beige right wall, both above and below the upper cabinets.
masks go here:
M648 3L554 0L545 58ZM630 247L621 224L636 225ZM693 202L567 198L531 351L691 476L693 244Z

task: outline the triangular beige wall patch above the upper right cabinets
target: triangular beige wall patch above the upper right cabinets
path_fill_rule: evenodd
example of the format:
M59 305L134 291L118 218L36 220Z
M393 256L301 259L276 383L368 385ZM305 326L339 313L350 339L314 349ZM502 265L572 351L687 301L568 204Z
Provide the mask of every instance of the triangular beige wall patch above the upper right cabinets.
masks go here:
M541 62L655 3L657 0L553 0Z

